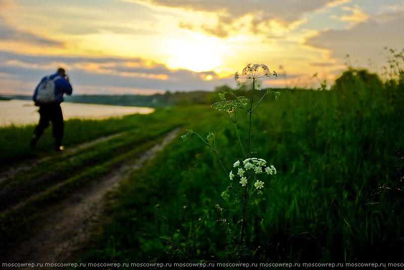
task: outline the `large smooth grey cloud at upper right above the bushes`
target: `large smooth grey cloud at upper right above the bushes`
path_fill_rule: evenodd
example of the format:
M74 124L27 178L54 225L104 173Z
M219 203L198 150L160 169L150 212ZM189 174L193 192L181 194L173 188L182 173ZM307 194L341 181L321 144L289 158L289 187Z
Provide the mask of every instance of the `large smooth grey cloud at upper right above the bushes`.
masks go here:
M361 22L349 29L326 30L311 37L306 44L327 49L331 58L343 59L347 54L364 66L369 59L378 65L385 65L384 56L380 53L384 47L402 49L404 35L397 26L404 25L404 10L396 13L379 14L368 21Z

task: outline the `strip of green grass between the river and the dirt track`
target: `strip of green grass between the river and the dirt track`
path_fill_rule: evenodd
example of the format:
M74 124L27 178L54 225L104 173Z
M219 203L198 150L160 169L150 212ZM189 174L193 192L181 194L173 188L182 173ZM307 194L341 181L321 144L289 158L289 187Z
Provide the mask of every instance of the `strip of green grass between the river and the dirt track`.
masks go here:
M172 119L167 120L168 117ZM183 118L176 115L173 110L156 109L156 112L150 115L130 115L123 118L111 118L108 120L80 120L73 119L65 121L65 134L63 137L63 145L66 147L76 145L78 143L91 141L93 139L126 132L128 130L142 130L145 123L156 126L169 123L181 124ZM32 138L34 125L23 127L10 126L0 128L0 163L4 166L0 171L5 170L13 164L24 159L48 155L53 151L55 140L52 138L52 126L49 126L42 137L38 141L37 150L30 151L29 142Z

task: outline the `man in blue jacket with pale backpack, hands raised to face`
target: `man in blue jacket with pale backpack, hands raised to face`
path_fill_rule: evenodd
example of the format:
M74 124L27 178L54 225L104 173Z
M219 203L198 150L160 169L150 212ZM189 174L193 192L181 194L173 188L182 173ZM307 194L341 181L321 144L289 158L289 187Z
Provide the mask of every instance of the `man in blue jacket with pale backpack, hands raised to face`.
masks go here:
M69 77L63 68L59 68L55 74L45 76L36 86L32 96L35 106L39 107L39 123L35 127L34 135L29 144L32 150L35 149L43 130L52 122L52 134L55 138L55 151L62 151L62 137L64 131L63 114L60 103L63 102L63 95L72 94L72 86Z

